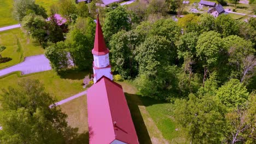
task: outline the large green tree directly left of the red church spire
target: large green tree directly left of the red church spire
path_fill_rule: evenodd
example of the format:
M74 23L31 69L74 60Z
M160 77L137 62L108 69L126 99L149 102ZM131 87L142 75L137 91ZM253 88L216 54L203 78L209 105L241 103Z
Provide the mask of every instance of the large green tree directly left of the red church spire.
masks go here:
M65 41L67 51L80 70L91 69L91 49L94 45L95 22L90 18L83 18L76 23L68 33Z

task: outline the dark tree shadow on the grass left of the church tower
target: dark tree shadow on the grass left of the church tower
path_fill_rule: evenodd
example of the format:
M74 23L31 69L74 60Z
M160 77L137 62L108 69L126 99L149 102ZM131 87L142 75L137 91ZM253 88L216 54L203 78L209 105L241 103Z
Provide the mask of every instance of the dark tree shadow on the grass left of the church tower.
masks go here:
M68 69L65 71L60 71L58 73L61 79L71 79L71 80L81 80L84 79L85 75L88 75L88 71L80 71L77 69Z

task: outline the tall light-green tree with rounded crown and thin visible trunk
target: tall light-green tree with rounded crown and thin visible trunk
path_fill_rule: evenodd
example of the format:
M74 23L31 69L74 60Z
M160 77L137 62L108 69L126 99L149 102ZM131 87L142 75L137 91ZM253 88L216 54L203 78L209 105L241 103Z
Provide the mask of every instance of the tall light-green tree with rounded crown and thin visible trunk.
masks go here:
M224 51L223 41L220 34L214 31L204 32L199 36L196 45L196 56L203 63L203 86L207 77L208 70L216 66L219 62L220 53Z

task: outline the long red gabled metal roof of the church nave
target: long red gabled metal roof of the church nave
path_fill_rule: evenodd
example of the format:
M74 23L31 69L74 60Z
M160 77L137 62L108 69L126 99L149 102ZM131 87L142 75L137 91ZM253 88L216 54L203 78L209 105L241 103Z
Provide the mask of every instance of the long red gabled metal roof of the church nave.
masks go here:
M90 144L107 144L114 140L138 143L123 88L107 77L88 89L88 124Z

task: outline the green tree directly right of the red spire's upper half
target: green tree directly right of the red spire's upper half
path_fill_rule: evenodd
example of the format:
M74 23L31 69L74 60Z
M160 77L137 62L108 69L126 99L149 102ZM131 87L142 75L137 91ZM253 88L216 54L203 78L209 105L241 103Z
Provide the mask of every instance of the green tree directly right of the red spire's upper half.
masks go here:
M104 38L109 41L113 34L121 29L129 31L131 23L129 21L127 10L124 7L117 7L106 14L106 19L102 27Z

